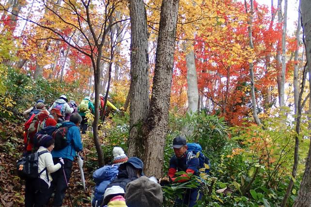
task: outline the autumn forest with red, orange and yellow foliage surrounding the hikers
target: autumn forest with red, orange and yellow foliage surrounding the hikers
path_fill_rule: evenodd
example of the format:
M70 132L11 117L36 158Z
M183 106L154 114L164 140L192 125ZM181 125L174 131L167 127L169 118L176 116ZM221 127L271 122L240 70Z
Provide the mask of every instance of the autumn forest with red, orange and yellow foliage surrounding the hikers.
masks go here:
M114 147L168 177L184 135L209 173L163 185L163 207L198 185L195 207L311 207L311 2L293 2L0 0L0 207L25 203L23 112L62 95L94 106L64 206L92 206Z

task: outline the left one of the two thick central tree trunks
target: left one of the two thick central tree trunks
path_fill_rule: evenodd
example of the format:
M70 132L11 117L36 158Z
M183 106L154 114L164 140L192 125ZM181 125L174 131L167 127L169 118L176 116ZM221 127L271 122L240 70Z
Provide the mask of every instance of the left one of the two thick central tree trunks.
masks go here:
M131 93L128 156L143 156L141 126L149 110L149 60L147 14L143 0L130 0Z

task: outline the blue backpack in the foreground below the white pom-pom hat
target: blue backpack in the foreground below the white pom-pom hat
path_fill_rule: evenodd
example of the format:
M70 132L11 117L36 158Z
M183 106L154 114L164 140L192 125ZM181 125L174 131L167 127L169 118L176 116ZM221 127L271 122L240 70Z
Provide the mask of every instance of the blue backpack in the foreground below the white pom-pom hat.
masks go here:
M119 173L119 165L105 165L93 173L96 183L92 206L98 207L104 198L106 187L110 184Z

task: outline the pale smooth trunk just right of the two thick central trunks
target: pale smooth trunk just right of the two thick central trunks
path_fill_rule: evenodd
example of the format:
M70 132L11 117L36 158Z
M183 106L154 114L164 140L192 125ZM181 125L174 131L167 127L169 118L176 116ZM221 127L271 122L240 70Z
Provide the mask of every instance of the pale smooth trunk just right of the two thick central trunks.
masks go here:
M198 92L198 79L197 69L195 66L195 59L193 48L190 49L186 55L187 63L187 96L188 96L188 112L195 113L198 111L199 92Z

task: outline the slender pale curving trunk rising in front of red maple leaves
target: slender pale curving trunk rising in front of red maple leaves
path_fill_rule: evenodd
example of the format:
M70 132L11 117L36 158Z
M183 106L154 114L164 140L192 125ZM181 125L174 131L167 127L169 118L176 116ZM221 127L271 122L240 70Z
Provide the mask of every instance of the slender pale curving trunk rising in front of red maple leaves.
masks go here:
M247 4L245 0L245 9L247 12ZM250 48L254 48L253 40L252 40L252 24L253 24L253 14L254 14L254 5L253 0L250 0L250 15L249 15L249 46ZM253 62L249 62L249 77L250 77L250 97L251 97L251 104L252 104L252 114L256 124L260 125L261 122L258 118L257 114L257 103L256 103L256 94L255 94L255 80L254 80L254 69L253 69Z

